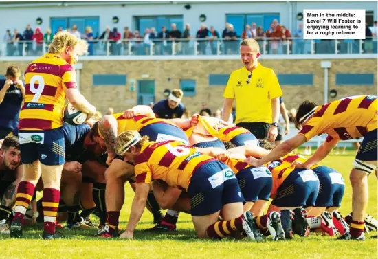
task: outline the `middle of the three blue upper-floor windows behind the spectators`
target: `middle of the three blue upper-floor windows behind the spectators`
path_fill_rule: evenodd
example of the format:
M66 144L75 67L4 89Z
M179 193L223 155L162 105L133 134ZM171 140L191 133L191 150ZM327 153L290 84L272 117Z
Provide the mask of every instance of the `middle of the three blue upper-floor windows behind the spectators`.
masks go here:
M139 16L135 17L135 27L140 32L140 35L144 34L146 28L154 27L156 32L160 32L162 27L165 26L167 30L170 30L170 25L176 23L177 29L184 30L184 21L182 16Z

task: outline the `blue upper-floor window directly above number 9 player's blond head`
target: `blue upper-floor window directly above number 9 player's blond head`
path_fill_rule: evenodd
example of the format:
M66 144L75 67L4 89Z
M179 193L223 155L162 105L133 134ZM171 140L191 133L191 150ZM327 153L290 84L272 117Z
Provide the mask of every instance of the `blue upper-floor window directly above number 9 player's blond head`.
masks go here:
M92 28L93 38L99 36L100 33L100 18L99 17L52 17L50 19L50 27L52 34L58 32L58 28L62 27L63 30L71 28L72 25L78 27L80 34L85 33L85 27L90 26Z

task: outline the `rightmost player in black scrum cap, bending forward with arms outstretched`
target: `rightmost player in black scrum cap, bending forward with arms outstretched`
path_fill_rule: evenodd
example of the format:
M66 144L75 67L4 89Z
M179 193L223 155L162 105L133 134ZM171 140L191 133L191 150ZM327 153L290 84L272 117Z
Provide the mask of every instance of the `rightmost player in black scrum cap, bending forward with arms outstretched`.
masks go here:
M326 133L329 136L318 150L297 167L310 168L324 159L338 142L364 137L356 155L350 180L353 188L351 228L340 239L364 240L364 217L368 203L367 179L377 168L377 96L362 95L336 100L322 106L305 101L296 114L296 127L302 128L291 139L282 142L262 159L249 157L249 164L260 166L287 155L312 137Z

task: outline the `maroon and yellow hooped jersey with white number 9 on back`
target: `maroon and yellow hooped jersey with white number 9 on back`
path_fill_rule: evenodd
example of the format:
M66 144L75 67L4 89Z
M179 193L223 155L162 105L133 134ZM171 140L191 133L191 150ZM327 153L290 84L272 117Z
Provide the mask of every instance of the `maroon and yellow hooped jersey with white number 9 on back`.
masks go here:
M76 72L57 54L46 53L25 71L25 103L19 129L46 131L63 126L65 91L76 88Z

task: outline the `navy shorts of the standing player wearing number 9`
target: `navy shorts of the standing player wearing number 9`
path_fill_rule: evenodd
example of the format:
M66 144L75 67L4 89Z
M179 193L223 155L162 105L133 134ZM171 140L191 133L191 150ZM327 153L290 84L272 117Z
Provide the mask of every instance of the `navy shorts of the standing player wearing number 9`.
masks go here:
M63 127L48 131L19 131L23 164L41 161L46 166L65 164Z

